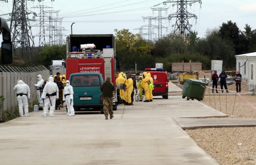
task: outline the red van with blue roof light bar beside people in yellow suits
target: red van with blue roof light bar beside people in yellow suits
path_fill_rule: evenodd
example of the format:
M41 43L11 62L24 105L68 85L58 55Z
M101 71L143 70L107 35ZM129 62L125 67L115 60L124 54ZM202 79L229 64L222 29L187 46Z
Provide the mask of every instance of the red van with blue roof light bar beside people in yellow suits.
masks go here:
M154 71L155 70L155 71ZM164 99L168 99L168 78L166 72L158 71L155 68L146 68L146 72L151 74L154 82L153 96L162 96Z

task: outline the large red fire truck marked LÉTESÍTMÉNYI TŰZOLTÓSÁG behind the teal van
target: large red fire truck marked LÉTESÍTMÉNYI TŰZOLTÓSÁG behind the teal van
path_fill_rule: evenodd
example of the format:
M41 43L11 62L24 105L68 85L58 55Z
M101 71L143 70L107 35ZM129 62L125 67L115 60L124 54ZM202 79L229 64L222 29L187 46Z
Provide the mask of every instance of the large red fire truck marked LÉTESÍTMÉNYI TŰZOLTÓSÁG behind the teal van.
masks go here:
M115 37L104 35L70 35L67 37L66 79L72 73L101 73L111 77L115 85ZM74 105L75 106L75 105ZM117 109L117 95L113 95L113 110Z

